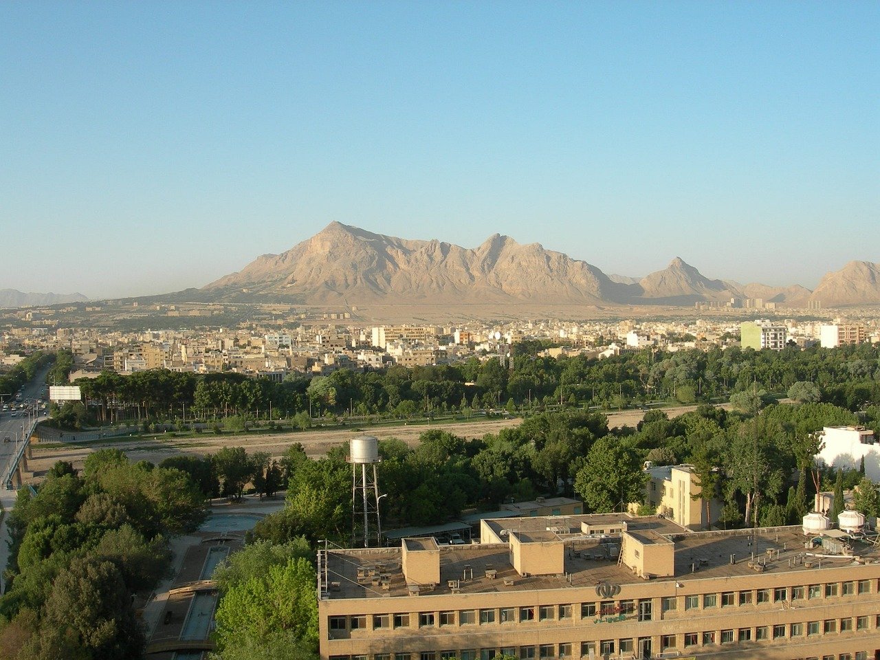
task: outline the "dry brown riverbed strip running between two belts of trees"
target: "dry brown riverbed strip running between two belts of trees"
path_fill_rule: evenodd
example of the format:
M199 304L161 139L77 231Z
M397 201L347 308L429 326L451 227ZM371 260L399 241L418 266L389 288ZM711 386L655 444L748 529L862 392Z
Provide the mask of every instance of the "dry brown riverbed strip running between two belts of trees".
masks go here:
M664 412L670 417L678 414L686 413L693 410L695 406L678 406L664 408ZM722 407L729 408L729 404L723 404ZM635 426L642 421L644 412L642 410L624 410L620 413L608 414L608 425L615 426ZM370 436L378 438L396 437L403 440L407 444L417 444L419 436L428 429L444 429L456 436L466 438L482 437L487 433L497 433L499 430L517 426L521 419L515 418L510 420L474 420L471 422L437 422L432 425L417 424L414 426L393 426L393 427L375 427L367 429L365 432ZM152 438L137 438L132 441L118 441L111 444L88 444L81 446L64 445L62 447L45 447L41 448L40 444L33 445L33 460L28 461L28 467L33 470L35 477L40 477L51 467L57 460L67 460L73 463L77 469L83 466L86 456L95 448L115 447L121 451L125 451L131 460L149 460L151 463L158 464L169 456L178 454L208 454L213 453L223 447L243 446L247 451L268 451L277 457L290 446L290 444L300 443L304 446L305 452L312 457L320 457L326 454L331 448L348 441L357 432L352 429L343 430L308 430L297 431L292 433L266 434L260 436L236 436L222 435L215 436L205 434L201 437L187 438L171 438L167 440L162 436Z

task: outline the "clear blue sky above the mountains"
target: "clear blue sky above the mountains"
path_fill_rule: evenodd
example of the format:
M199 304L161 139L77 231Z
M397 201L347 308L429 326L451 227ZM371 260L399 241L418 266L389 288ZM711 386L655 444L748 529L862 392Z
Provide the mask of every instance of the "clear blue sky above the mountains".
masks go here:
M880 3L5 2L0 289L326 224L810 288L880 261Z

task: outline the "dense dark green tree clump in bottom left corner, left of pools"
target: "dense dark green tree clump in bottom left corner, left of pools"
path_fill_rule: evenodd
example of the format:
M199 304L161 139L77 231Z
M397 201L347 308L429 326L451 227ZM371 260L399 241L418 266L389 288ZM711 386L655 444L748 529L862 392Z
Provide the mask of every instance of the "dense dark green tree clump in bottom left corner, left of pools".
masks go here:
M92 453L81 474L59 461L18 492L0 597L3 660L120 660L143 654L133 609L165 576L167 539L206 515L187 473Z

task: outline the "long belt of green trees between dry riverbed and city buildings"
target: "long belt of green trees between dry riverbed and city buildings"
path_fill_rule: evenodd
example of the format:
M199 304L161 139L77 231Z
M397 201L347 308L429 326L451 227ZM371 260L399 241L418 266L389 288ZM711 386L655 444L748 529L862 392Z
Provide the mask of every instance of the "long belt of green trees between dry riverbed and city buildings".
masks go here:
M466 408L590 404L624 407L633 401L693 403L744 392L789 392L850 409L880 405L880 348L715 348L666 353L643 349L604 360L543 357L535 342L498 358L431 367L393 366L366 373L339 370L326 377L290 376L282 383L223 372L147 370L127 377L105 371L79 379L96 404L97 422L121 417L294 414L414 414Z

